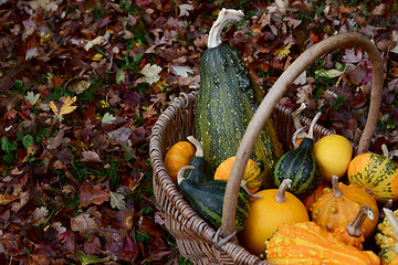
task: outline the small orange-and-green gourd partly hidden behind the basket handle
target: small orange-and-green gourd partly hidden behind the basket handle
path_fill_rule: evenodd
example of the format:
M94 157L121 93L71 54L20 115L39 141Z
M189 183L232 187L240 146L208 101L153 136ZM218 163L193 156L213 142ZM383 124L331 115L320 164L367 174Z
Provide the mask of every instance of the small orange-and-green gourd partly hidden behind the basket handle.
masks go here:
M218 166L214 173L214 180L228 180L234 158L235 157L227 158L223 162L220 163L220 166ZM250 193L255 193L259 191L262 182L261 169L260 166L252 159L249 159L242 179L247 181L245 187Z

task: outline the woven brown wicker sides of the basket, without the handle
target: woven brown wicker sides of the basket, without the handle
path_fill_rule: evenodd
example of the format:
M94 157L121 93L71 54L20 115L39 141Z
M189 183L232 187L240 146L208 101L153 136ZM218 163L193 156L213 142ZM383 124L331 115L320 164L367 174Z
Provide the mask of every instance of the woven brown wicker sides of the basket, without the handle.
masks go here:
M211 229L179 194L177 186L171 181L164 163L169 147L187 136L195 135L195 100L197 93L181 94L160 115L150 138L149 152L154 166L154 192L156 201L165 215L167 230L177 240L179 252L196 264L268 264L252 255L239 244L227 243L220 248L213 242L216 231ZM300 117L303 125L311 119ZM276 106L273 120L284 149L291 148L294 125L293 112ZM314 138L333 134L316 125Z

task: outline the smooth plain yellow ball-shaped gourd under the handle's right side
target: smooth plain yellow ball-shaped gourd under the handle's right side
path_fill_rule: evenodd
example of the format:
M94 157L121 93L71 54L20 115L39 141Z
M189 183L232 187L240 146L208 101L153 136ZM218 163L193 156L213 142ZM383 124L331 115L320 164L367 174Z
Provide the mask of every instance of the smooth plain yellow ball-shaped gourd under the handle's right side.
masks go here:
M341 135L328 135L315 142L314 156L322 168L324 180L332 181L332 176L341 179L347 172L353 146Z

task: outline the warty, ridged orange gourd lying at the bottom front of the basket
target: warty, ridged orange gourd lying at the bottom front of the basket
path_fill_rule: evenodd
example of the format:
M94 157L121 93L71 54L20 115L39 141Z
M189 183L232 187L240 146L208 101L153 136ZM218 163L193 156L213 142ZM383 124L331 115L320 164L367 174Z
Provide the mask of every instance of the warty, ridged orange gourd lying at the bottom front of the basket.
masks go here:
M262 257L271 264L380 264L374 252L346 245L314 222L283 223L265 245Z

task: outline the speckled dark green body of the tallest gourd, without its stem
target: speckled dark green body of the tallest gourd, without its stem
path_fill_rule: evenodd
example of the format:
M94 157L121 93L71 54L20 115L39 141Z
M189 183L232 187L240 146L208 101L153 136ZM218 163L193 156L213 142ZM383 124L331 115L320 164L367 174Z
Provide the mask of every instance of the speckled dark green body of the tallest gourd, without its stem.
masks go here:
M196 105L197 138L212 170L237 153L262 97L237 50L221 44L203 53ZM269 119L251 156L264 167L265 187L272 186L271 168L282 153L273 123Z

